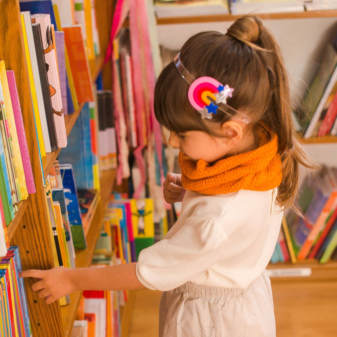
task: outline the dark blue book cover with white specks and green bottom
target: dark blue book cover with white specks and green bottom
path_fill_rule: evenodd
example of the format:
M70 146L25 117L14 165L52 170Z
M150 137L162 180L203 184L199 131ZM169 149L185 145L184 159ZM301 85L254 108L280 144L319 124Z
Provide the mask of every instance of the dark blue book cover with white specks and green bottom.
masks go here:
M82 225L80 204L77 197L76 183L72 166L69 164L60 165L60 170L64 195L67 200L68 217L74 247L78 249L85 249L87 248L87 243Z

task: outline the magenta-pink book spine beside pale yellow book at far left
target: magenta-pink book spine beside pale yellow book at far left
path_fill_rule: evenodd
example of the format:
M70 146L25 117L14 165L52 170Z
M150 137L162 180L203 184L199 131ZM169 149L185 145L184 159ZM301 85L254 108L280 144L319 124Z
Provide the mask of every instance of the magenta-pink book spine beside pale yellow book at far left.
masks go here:
M24 168L24 173L25 173L25 178L26 178L27 191L29 194L31 194L31 193L35 193L36 190L35 190L35 183L34 183L34 177L33 177L33 172L32 172L32 165L30 163L30 157L29 157L29 152L28 152L25 126L23 124L23 119L22 119L17 84L15 81L14 71L7 70L6 73L7 73L7 79L8 79L10 98L12 100L12 105L13 105L15 125L18 131L19 146L20 146L22 163L23 163L23 168Z

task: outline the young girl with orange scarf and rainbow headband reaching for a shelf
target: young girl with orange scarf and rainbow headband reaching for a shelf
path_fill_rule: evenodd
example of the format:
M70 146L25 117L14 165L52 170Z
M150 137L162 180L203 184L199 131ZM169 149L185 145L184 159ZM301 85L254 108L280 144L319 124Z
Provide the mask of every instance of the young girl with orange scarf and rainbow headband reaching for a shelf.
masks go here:
M311 167L292 122L279 47L261 20L191 37L160 74L156 117L180 150L182 175L164 197L182 200L165 239L137 263L28 270L52 303L75 290L161 290L159 336L275 336L266 272L283 210Z

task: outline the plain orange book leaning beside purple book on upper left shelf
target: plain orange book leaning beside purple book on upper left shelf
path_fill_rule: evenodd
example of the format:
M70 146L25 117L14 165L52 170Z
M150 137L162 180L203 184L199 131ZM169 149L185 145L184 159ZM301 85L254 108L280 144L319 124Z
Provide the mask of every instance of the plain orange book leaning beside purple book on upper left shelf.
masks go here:
M80 25L64 27L64 41L79 102L94 101L91 74Z

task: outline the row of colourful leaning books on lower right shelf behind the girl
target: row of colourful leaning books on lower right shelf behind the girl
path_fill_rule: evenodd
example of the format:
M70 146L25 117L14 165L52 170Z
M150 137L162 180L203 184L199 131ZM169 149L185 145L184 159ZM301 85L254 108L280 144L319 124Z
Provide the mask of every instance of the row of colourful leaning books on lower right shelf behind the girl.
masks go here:
M301 214L291 210L283 219L271 262L337 259L337 168L324 166L299 190Z

